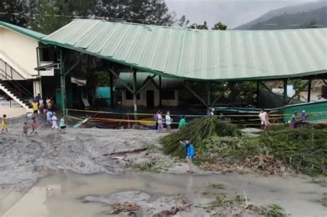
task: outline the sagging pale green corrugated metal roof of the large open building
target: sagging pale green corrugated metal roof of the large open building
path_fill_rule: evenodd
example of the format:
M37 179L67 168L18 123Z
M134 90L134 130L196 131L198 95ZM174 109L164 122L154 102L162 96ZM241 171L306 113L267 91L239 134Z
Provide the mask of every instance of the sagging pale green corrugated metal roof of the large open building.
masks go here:
M245 80L327 73L327 28L217 31L77 19L45 39L168 77Z

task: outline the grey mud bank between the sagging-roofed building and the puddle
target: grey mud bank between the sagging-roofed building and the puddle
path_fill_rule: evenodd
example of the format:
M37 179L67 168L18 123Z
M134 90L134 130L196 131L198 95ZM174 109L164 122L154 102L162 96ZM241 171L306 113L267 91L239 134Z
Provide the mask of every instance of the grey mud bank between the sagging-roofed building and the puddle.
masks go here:
M27 138L21 133L24 121L32 125L30 118L23 116L8 120L8 134L0 135L0 187L31 187L37 178L46 175L46 169L68 169L81 174L119 174L132 168L146 169L143 167L148 163L157 171L185 173L188 169L185 163L175 163L161 153L159 138L166 135L164 133L97 128L75 130L68 127L63 134L52 132L43 118L39 117L39 135ZM112 154L142 148L146 150Z

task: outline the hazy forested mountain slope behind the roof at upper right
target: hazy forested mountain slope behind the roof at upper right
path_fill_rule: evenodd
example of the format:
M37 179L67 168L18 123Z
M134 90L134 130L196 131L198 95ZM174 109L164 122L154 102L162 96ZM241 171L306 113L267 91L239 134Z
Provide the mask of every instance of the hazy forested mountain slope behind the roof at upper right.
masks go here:
M315 1L272 10L258 19L240 25L235 30L275 30L306 28L312 21L315 26L326 27L327 1ZM311 23L311 24L313 24Z

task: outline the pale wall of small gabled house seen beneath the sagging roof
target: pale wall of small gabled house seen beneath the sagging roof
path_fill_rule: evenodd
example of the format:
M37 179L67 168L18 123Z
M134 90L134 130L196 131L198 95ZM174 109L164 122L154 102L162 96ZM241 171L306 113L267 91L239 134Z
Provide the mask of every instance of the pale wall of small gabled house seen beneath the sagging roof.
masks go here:
M157 90L157 87L153 85L152 83L148 85L143 91L140 93L140 99L137 100L137 105L141 106L147 106L146 105L146 92L148 90L153 90L155 92L155 106L159 106L159 90ZM122 90L121 96L122 96L122 105L123 106L133 106L133 100L132 99L126 99L126 91L128 90ZM178 90L175 90L175 99L168 100L168 99L162 99L161 103L162 105L166 106L177 106L178 105Z

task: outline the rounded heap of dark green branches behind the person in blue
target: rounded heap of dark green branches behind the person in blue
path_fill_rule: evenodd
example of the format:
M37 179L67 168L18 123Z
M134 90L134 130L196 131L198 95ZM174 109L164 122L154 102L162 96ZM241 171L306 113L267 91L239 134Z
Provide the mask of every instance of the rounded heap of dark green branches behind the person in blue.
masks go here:
M186 125L184 128L161 138L164 145L164 153L172 156L185 157L185 149L179 143L186 138L190 138L195 145L197 153L204 151L204 139L211 136L239 136L241 132L236 125L219 121L216 117L196 118Z

